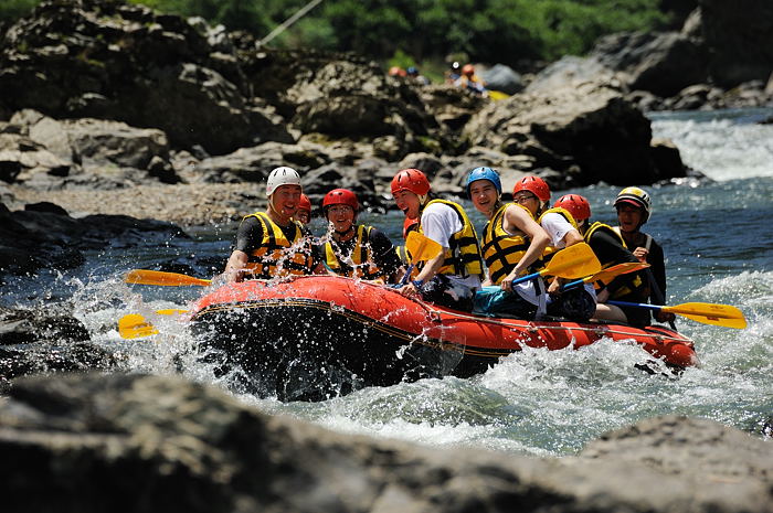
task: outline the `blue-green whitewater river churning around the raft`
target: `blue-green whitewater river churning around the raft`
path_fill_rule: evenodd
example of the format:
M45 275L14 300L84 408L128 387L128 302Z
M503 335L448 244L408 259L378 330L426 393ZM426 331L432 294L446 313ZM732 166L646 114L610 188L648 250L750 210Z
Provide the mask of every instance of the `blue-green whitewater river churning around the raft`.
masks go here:
M660 114L656 137L680 148L690 167L714 180L650 188L654 215L646 225L665 247L668 301L734 304L746 316L740 331L678 318L702 361L681 377L635 368L647 355L634 345L602 342L581 351L527 350L469 380L423 380L366 388L322 403L283 404L240 396L269 413L308 419L352 434L442 447L484 446L541 456L571 455L600 434L657 415L707 417L763 436L773 416L773 125L755 124L773 109L719 114ZM618 188L586 195L599 221L614 222ZM474 211L470 205L469 211ZM395 213L363 216L399 238ZM476 217L478 224L483 224ZM317 220L313 224L321 232ZM6 304L70 301L99 343L126 356L135 372L181 373L223 385L191 354L193 341L170 318L155 319L162 335L124 341L115 322L129 312L184 306L201 289L128 287L118 278L159 261L190 265L208 276L229 254L234 225L193 232L193 239L148 247L116 247L88 256L66 275L15 279L3 287Z

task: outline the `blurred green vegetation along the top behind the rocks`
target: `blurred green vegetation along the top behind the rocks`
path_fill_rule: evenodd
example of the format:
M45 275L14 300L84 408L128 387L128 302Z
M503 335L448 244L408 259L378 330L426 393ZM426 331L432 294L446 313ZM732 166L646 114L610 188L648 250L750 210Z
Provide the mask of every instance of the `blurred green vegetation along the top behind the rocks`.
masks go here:
M62 0L60 0L62 1ZM258 39L308 0L130 0L160 12L200 15ZM40 0L3 0L0 21ZM604 34L678 24L698 0L324 0L273 40L278 47L353 51L388 65L437 68L448 58L516 70L582 55ZM520 70L519 70L520 71ZM432 73L431 73L432 74Z

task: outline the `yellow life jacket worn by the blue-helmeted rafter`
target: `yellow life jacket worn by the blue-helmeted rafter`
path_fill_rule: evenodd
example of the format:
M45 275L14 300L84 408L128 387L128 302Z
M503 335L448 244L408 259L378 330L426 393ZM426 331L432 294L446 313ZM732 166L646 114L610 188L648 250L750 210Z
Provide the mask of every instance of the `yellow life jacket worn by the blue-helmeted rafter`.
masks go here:
M508 206L516 205L531 214L531 211L520 203L508 203L499 207L494 216L484 226L483 255L488 267L488 278L493 284L499 285L502 279L523 258L531 239L525 234L511 235L505 232L505 211Z

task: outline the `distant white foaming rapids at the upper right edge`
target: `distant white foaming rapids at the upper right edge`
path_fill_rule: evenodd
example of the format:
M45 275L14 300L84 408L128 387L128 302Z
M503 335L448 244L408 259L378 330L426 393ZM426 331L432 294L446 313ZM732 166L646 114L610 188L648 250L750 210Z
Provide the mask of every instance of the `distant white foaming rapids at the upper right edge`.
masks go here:
M653 135L670 139L682 161L718 181L773 177L773 125L660 119Z

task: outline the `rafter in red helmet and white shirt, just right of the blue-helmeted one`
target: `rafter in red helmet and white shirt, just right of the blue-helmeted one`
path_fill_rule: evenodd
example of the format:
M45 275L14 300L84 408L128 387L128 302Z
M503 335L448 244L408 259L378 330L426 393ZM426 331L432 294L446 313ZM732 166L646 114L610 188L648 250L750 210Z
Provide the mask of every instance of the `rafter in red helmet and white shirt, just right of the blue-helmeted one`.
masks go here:
M534 271L542 270L559 250L584 242L572 214L560 206L550 207L550 185L541 178L528 175L516 182L512 188L512 200L526 206L550 237L550 243L540 260L532 266ZM596 293L593 285L561 291L561 285L566 281L569 280L555 277L550 282L548 313L573 321L587 321L596 309Z

